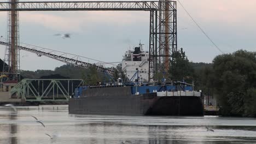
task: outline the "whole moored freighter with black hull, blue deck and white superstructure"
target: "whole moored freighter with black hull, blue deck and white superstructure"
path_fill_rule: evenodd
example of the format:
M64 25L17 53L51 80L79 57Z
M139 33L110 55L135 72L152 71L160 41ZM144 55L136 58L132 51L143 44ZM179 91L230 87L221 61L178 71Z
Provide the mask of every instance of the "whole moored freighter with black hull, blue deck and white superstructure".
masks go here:
M144 83L148 81L148 57L141 44L126 51L122 70L130 80L129 85L119 78L115 85L79 87L75 97L69 99L69 113L202 116L201 92L195 92L193 87L183 82L168 85L165 79L157 86Z

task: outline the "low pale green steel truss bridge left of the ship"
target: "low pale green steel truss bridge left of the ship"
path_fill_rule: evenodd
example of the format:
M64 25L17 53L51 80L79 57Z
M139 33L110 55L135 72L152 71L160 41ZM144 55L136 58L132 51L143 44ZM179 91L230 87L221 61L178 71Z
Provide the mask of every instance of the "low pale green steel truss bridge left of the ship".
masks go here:
M79 79L23 79L10 95L22 101L67 101L82 83Z

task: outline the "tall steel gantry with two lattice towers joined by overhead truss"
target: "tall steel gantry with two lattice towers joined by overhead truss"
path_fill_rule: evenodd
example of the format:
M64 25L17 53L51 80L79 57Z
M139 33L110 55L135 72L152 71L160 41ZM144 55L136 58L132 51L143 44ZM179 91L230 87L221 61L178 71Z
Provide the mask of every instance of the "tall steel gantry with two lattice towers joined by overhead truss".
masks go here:
M90 2L0 2L0 11L8 11L8 40L2 74L10 80L19 80L19 13L18 11L67 10L136 10L150 11L149 81L159 73L168 73L172 53L177 51L176 1L90 1ZM10 77L10 75L13 75Z

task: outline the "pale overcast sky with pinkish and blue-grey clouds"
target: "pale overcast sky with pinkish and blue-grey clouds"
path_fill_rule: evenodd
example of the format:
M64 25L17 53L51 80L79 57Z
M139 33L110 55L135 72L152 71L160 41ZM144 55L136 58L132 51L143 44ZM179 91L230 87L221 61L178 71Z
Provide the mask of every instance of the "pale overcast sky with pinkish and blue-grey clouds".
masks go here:
M180 1L223 52L256 50L255 0ZM212 62L221 53L179 3L177 13L178 47L183 47L190 61ZM148 49L148 11L22 11L19 14L22 43L104 62L121 61L129 45L137 46L139 40ZM0 12L0 22L0 35L6 35L6 12ZM56 33L71 33L71 39L56 37ZM0 46L2 59L4 50L5 46ZM20 61L23 70L53 70L63 65L62 62L24 51L21 51Z

